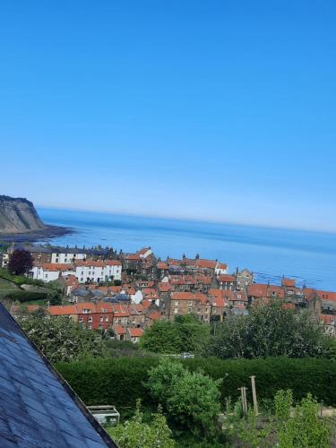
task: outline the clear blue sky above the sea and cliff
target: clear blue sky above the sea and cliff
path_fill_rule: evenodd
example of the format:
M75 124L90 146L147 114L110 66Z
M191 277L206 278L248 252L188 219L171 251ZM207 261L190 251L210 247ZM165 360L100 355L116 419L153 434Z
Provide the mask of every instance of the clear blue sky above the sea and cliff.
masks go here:
M336 231L336 3L3 0L2 194Z

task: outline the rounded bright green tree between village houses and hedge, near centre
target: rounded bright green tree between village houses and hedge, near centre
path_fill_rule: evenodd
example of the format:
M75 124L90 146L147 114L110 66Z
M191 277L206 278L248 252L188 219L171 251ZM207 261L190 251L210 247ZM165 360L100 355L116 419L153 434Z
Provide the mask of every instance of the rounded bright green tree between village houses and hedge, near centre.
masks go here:
M199 353L209 343L210 328L193 315L177 316L175 322L158 321L145 330L142 349L154 353Z

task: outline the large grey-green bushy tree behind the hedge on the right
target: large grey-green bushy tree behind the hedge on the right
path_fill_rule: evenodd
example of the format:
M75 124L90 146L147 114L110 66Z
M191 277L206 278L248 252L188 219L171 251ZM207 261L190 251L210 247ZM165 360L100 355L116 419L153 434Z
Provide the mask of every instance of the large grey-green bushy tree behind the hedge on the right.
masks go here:
M327 338L308 312L284 309L277 299L217 325L208 352L218 358L321 357Z

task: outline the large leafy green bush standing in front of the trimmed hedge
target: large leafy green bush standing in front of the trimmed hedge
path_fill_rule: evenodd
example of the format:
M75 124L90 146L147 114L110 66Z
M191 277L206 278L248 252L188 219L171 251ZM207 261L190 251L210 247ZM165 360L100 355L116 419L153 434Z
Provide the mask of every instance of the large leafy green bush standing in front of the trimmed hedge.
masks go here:
M162 404L169 421L202 438L214 437L220 414L220 380L201 371L189 372L180 362L161 359L152 367L146 387Z

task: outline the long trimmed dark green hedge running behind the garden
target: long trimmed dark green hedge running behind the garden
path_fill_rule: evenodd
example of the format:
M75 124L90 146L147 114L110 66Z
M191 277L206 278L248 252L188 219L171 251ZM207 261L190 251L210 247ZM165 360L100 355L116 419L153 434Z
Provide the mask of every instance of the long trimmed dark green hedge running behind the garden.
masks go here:
M137 398L151 406L143 382L156 358L90 359L56 365L74 391L87 405L113 404L117 409L134 409ZM222 404L236 399L237 388L245 385L250 392L250 375L255 375L258 399L273 399L280 389L292 389L294 398L311 392L326 405L336 406L336 361L330 359L185 359L190 370L201 368L212 378L223 378ZM249 397L251 399L251 397Z

